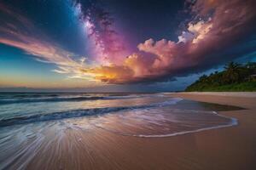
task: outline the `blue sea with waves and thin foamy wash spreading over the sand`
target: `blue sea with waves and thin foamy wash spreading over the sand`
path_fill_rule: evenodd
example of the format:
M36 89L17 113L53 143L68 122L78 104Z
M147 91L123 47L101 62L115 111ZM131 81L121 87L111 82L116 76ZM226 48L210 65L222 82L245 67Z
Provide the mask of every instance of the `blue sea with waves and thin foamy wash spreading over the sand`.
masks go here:
M112 135L165 138L235 126L218 111L237 109L168 94L1 93L0 169L24 169L42 153L49 164L61 161L63 151L108 144Z

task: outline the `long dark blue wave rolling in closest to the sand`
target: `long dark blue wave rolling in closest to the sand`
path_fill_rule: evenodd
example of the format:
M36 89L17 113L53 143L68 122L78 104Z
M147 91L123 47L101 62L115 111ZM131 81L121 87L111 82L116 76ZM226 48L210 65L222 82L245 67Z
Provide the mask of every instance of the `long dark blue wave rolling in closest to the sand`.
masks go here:
M123 111L123 110L134 110L134 109L145 109L166 105L174 105L182 99L173 98L161 103L155 103L150 105L137 105L137 106L125 106L125 107L104 107L104 108L92 108L83 110L72 110L72 111L60 111L50 114L37 114L32 116L17 116L9 119L0 120L0 127L7 127L15 124L24 124L30 122L44 122L51 120L60 120L65 118L74 118L80 116L96 116L102 115L113 111Z

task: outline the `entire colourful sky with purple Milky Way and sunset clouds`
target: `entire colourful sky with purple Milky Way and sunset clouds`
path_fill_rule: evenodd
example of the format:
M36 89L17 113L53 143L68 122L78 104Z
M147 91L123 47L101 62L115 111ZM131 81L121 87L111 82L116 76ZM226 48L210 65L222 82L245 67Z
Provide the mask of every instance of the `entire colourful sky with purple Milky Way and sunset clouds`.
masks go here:
M1 0L0 90L179 91L256 60L255 0Z

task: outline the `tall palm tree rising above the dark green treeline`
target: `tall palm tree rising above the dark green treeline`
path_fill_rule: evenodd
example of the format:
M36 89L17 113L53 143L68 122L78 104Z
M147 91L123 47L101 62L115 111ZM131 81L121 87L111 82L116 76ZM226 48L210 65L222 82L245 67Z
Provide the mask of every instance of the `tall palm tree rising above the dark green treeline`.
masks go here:
M241 71L240 64L230 62L228 65L224 66L224 69L224 82L234 83L239 81Z

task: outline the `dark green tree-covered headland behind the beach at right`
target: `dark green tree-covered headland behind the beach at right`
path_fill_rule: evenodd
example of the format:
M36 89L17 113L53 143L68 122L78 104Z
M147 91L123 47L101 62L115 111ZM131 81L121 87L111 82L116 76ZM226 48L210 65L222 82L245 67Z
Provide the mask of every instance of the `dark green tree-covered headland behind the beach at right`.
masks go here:
M187 92L244 92L256 91L256 63L225 65L224 71L203 75L185 89Z

